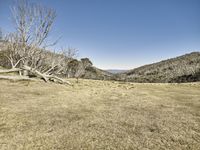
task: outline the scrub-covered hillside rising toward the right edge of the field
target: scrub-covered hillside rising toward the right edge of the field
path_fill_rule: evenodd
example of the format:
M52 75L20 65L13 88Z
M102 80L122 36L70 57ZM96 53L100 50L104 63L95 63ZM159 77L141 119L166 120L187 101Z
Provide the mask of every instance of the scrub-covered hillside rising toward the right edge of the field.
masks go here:
M158 63L117 74L116 80L131 82L195 82L200 81L200 52L192 52Z

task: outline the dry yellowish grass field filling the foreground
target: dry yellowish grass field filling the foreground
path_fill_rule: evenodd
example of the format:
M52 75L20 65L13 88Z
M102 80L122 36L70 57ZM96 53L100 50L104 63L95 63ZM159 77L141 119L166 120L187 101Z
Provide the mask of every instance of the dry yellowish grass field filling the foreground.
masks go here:
M0 80L0 149L200 149L200 83Z

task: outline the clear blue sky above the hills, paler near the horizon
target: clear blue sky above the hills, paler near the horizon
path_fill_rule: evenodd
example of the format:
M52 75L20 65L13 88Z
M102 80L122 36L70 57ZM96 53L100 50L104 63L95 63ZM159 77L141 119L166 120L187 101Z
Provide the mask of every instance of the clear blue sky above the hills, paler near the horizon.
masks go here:
M102 69L130 69L200 50L200 0L32 0L57 12L52 39ZM0 0L11 31L12 0Z

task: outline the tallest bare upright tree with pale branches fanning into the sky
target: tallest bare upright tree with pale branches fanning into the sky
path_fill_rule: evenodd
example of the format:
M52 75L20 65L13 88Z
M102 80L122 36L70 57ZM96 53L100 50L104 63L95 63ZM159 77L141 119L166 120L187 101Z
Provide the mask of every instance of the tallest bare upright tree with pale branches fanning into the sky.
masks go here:
M11 11L19 38L17 42L20 45L19 54L23 58L23 65L37 69L37 62L41 59L42 53L40 47L49 35L56 16L55 11L28 3L26 0L18 0Z

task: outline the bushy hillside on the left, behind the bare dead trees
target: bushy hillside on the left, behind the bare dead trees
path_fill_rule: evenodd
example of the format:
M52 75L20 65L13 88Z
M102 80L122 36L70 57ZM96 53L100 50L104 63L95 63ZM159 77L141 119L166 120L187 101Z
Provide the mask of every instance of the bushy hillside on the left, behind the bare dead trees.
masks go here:
M1 73L9 73L13 72L13 68L7 56L9 54L9 46L11 43L6 41L0 42L0 66L4 68L0 68ZM40 56L43 56L40 64L40 68L38 70L42 70L43 68L47 68L48 73L54 73L58 77L67 77L67 78L85 78L85 79L95 79L95 80L110 80L113 77L112 73L106 72L104 70L98 69L93 66L92 62L88 58L82 58L80 60L76 59L75 56L76 50L69 48L63 49L61 53L55 53L49 50L42 50ZM17 62L13 59L13 62ZM20 65L20 64L19 64ZM8 69L8 70L5 70ZM15 71L15 70L14 70ZM34 74L29 74L29 76L33 76Z

